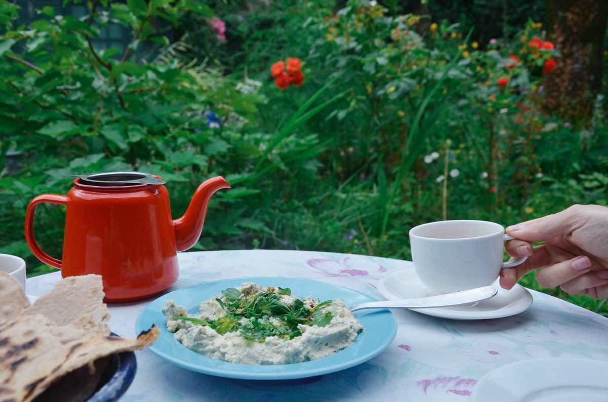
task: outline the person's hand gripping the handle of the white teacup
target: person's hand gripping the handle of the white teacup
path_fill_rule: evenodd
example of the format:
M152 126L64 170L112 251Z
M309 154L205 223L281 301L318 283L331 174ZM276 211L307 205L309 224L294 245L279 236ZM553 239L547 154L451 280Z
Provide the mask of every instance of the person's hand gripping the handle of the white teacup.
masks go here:
M559 213L506 228L510 256L528 259L500 271L500 286L511 289L524 274L541 268L542 287L561 287L571 295L608 298L608 208L573 205ZM544 245L532 248L533 243Z

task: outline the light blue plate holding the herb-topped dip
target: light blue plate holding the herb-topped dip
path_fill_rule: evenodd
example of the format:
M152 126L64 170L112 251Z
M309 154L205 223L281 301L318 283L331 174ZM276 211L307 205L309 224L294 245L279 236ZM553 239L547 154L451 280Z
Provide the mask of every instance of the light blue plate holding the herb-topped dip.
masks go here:
M386 349L397 332L397 322L389 310L362 310L354 313L365 331L344 350L322 359L292 364L240 364L216 360L199 355L182 346L167 331L167 320L161 309L167 300L174 300L182 305L188 313L198 313L198 306L213 296L221 295L221 291L237 287L243 282L254 282L264 287L274 286L291 288L291 293L299 298L313 296L315 299L342 299L347 305L375 301L370 296L355 290L326 284L325 282L309 281L294 278L238 278L224 281L207 282L192 287L172 291L154 300L143 309L135 324L137 332L150 329L156 324L161 329L161 336L148 350L155 355L184 369L199 373L242 380L289 380L332 373L348 369L364 363Z

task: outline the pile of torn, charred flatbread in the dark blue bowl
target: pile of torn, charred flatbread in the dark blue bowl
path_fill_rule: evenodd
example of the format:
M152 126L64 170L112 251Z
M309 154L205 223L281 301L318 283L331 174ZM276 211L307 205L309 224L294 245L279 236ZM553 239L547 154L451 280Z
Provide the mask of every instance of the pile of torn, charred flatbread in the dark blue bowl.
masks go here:
M160 335L154 325L137 339L109 336L99 275L61 279L31 306L19 282L5 276L0 275L0 402L57 395L62 401L86 400L112 355L143 349Z

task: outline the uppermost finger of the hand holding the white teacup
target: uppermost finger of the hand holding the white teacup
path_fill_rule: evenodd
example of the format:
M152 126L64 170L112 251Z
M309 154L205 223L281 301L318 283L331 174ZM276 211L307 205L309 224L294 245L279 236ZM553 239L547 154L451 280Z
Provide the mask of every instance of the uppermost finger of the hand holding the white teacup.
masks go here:
M579 213L575 208L570 207L556 214L517 223L507 227L505 231L510 236L530 243L542 242L565 233L572 233L580 225L578 218Z

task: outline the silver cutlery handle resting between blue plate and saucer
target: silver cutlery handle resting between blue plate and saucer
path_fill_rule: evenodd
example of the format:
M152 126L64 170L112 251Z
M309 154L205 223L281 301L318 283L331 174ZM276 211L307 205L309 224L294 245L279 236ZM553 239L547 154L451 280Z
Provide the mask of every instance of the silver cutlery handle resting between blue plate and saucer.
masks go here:
M452 305L471 304L494 297L498 292L493 286L446 293L445 295L429 296L417 299L387 300L361 303L353 305L351 312L362 308L427 308L427 307L449 307Z

